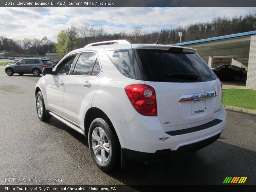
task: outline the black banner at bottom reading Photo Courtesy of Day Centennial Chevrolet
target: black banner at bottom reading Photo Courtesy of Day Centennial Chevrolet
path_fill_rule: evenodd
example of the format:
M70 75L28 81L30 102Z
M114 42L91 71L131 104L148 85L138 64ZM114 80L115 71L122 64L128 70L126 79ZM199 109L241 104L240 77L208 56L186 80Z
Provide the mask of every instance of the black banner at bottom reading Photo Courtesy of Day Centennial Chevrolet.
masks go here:
M1 192L84 192L84 191L90 191L90 192L120 192L120 191L172 191L172 192L183 192L183 191L207 191L207 192L220 192L220 191L232 191L232 192L241 192L241 191L256 191L256 185L255 186L248 186L248 185L220 185L220 186L170 186L170 185L146 185L146 186L140 186L140 185L55 185L55 186L49 186L49 185L8 185L0 186Z

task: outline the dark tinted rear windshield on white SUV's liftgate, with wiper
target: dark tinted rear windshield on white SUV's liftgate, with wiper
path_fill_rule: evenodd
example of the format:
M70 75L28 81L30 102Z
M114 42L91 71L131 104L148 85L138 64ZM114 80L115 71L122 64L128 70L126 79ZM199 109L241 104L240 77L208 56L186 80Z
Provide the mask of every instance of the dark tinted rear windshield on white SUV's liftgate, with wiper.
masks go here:
M217 79L201 57L194 54L137 50L145 81L204 82Z

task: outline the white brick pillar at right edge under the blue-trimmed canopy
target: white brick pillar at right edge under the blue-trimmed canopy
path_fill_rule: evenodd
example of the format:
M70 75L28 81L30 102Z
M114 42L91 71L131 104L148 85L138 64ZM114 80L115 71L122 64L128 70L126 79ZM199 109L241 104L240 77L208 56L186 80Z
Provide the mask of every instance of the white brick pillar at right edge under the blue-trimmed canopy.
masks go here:
M246 88L256 90L256 35L251 36Z

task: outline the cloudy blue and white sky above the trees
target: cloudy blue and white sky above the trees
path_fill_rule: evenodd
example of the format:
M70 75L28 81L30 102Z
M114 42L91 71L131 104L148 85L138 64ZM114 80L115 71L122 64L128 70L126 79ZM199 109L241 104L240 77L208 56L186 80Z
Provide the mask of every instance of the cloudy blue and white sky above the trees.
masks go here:
M216 17L255 12L255 7L0 7L0 36L12 39L47 36L56 42L61 29L71 23L103 27L107 33L147 32L186 26Z

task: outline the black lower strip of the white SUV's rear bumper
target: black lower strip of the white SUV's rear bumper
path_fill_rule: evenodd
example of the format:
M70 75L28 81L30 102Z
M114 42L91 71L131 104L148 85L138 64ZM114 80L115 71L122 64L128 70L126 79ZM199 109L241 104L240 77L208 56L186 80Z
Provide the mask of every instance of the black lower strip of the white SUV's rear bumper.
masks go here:
M125 149L121 148L121 162L123 162L123 165L127 160L136 160L136 161L155 161L155 160L164 160L164 159L171 159L176 156L184 155L189 152L193 152L196 150L199 150L201 148L204 148L211 143L213 143L215 140L217 140L220 137L220 133L217 135L214 135L213 137L210 137L208 139L198 141L196 143L191 143L188 145L183 145L179 147L177 150L171 151L171 150L165 150L165 151L159 151L156 153L144 153L140 151L134 151L131 149Z

